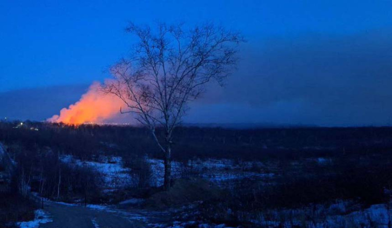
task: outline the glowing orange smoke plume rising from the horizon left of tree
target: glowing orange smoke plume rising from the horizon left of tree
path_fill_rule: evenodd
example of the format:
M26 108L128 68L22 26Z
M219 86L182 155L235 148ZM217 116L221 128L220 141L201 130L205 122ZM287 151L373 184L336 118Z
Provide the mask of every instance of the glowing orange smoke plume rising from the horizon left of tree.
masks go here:
M111 94L99 92L100 84L93 83L80 100L60 111L60 115L53 115L49 122L65 124L97 123L110 119L120 113L123 101Z

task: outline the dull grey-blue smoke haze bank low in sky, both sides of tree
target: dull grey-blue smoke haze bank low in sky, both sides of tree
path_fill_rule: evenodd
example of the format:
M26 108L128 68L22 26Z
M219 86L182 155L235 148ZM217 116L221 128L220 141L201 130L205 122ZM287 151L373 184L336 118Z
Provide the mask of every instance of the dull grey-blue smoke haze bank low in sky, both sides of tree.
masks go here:
M186 122L324 126L392 123L392 29L249 42L238 70L191 104ZM0 93L0 116L43 120L87 86Z

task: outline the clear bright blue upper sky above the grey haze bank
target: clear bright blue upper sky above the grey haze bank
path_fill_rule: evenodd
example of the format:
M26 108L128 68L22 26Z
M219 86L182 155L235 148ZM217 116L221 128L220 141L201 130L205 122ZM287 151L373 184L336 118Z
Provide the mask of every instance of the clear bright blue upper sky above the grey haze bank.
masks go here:
M248 45L273 37L354 34L390 26L383 0L4 0L0 2L0 91L90 84L126 55L128 21L214 21Z

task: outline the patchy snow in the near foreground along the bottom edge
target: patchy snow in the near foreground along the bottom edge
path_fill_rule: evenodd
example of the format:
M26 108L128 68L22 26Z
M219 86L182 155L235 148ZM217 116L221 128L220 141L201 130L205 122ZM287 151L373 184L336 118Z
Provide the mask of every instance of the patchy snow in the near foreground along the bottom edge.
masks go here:
M67 204L62 202L48 202L65 205L65 206L78 206L76 204ZM131 203L133 199L129 200ZM128 203L127 201L124 203ZM159 211L125 211L111 205L87 205L88 208L93 210L101 210L109 213L117 214L129 220L138 220L148 223L151 227L171 227L179 228L191 225L196 225L200 228L227 228L224 224L207 224L202 221L173 221L168 223L156 223L155 218L164 215L164 212ZM328 207L324 205L315 205L311 208L305 209L285 209L285 210L272 210L268 214L261 214L257 220L249 220L255 226L266 227L388 227L391 219L392 209L388 209L388 205L379 204L372 205L366 209L360 209L356 204L349 201L337 201ZM165 212L168 213L168 212ZM312 215L313 217L310 217ZM312 218L312 220L309 220ZM93 225L99 227L98 223ZM43 210L35 211L35 219L28 222L19 222L17 225L21 228L38 228L40 224L52 222L49 214ZM152 223L151 223L152 222Z

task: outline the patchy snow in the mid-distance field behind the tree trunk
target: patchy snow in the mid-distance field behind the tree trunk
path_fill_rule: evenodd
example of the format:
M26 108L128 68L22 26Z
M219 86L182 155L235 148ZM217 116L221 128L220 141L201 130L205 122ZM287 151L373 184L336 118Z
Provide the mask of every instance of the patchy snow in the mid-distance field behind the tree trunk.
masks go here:
M137 185L137 177L132 175L130 168L124 167L121 157L101 156L98 161L81 161L70 155L61 157L61 161L70 165L87 166L98 171L104 181L106 192L111 190L131 187ZM158 159L147 159L150 164L151 176L149 178L150 186L160 186L164 180L164 163ZM233 160L189 160L187 163L177 161L172 162L172 177L180 178L185 176L201 177L218 185L225 185L228 182L249 178L256 181L262 181L273 177L272 173L261 172L264 164L258 161L235 162ZM259 171L249 171L251 169Z

